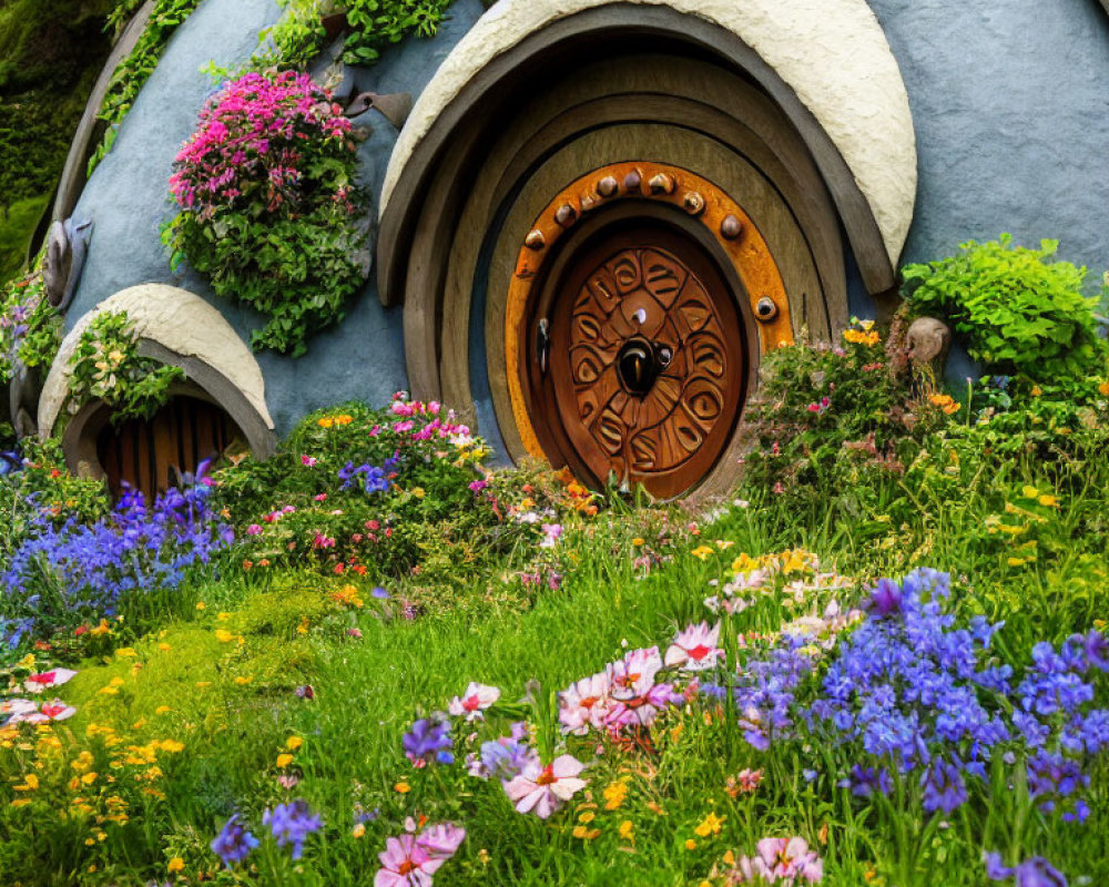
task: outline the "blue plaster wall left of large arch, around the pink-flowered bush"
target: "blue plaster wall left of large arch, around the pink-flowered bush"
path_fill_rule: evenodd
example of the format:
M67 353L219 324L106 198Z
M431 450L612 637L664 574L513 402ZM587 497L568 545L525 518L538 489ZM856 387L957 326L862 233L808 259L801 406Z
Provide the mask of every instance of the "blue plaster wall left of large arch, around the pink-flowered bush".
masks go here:
M257 45L258 31L272 24L279 11L274 0L204 0L174 34L74 211L78 217L91 217L94 228L68 326L121 289L162 283L212 303L248 340L250 330L258 325L252 314L215 297L186 266L171 273L159 232L174 214L167 190L173 157L195 129L196 114L213 89L201 67L208 60L220 64L245 61ZM481 12L479 0L458 0L438 38L409 40L390 50L377 67L356 72L358 89L418 94ZM397 133L374 111L356 123L374 130L360 156L364 179L378 194ZM307 356L291 360L263 353L257 361L265 376L269 412L281 434L304 414L328 404L352 398L386 402L407 385L400 310L381 308L370 275L366 289L352 302L347 319L315 337Z

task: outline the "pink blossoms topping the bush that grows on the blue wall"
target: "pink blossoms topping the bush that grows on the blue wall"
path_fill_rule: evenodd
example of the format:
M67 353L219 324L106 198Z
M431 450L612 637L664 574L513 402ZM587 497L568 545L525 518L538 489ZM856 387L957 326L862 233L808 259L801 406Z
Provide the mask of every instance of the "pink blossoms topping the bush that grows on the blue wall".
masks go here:
M343 109L307 74L252 72L205 104L200 126L174 160L170 191L182 208L203 218L251 203L268 212L295 208L315 186L306 174L308 155L349 155L349 136ZM348 187L333 195L349 204L348 197Z

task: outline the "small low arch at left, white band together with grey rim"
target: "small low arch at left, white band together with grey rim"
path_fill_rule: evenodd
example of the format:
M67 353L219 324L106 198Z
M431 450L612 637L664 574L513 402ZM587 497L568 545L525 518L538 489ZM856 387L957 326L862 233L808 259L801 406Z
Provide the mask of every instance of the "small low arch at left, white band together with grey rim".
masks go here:
M235 420L256 456L273 452L274 420L266 407L265 380L254 355L213 306L187 289L163 284L143 284L116 293L69 332L39 400L42 438L53 434L69 397L69 363L81 335L98 315L121 310L134 325L141 354L184 369L186 378Z

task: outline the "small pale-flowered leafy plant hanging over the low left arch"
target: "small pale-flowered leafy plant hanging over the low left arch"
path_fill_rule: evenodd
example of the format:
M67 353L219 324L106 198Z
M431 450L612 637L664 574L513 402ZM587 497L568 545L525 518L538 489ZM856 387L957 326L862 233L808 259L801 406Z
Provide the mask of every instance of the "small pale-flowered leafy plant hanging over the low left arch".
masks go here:
M125 312L100 314L89 324L70 357L70 410L91 400L112 409L112 421L149 419L183 379L180 367L139 355L139 340Z

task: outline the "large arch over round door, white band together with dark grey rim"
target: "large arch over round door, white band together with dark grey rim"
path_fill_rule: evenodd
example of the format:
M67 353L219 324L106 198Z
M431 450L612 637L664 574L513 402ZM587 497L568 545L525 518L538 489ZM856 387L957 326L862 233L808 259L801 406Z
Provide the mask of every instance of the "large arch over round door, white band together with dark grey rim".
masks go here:
M501 0L442 63L393 153L380 211L385 304L403 300L428 171L447 152L480 149L480 137L459 139L467 120L484 122L537 58L630 30L693 44L754 78L812 152L867 288L893 286L916 198L916 142L897 62L864 0Z

